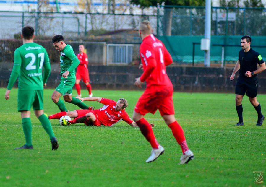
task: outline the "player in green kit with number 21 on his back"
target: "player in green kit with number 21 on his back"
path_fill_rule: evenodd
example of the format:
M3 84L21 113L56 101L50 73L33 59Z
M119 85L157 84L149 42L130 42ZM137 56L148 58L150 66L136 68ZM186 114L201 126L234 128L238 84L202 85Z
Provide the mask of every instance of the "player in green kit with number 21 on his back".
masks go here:
M49 57L43 46L33 42L34 29L32 27L23 27L21 38L23 45L14 52L14 66L5 93L5 99L8 100L10 90L19 77L17 111L21 113L26 144L15 149L33 149L30 122L30 108L33 107L35 116L49 134L52 150L56 150L57 139L53 134L50 121L43 114L43 87L46 86L51 70ZM44 68L43 77L42 67Z

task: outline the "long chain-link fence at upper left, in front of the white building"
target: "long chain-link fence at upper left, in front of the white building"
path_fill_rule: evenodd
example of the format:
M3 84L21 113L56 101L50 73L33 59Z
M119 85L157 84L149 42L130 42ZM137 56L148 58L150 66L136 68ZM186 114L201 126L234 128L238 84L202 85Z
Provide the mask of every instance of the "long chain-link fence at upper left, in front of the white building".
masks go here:
M0 39L14 38L25 25L34 27L38 38L61 34L75 39L121 29L136 29L144 19L150 20L156 30L156 15L0 11Z

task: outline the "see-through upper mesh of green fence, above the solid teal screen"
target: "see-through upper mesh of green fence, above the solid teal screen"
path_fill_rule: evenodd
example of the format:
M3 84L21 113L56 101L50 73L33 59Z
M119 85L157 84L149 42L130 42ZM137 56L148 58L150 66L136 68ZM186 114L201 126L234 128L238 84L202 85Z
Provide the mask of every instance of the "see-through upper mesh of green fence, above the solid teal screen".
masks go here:
M266 8L212 7L211 35L266 35ZM204 35L205 7L158 6L158 35Z

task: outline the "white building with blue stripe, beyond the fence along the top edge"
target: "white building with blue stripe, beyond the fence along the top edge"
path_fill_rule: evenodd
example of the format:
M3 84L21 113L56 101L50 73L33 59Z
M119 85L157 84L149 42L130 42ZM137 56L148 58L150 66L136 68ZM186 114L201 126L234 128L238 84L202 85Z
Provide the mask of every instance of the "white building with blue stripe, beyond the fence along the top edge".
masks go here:
M112 13L112 0L89 0L91 2L90 12L92 13ZM38 0L6 0L0 1L0 11L25 11L36 12ZM49 0L49 4L42 4L41 11L56 12L56 1ZM88 12L85 9L84 0L58 0L59 12ZM244 0L240 0L240 5L244 5ZM115 0L116 14L156 14L153 7L142 10L140 6L131 5L129 0ZM266 0L262 0L266 6ZM212 0L212 6L219 6L219 0Z

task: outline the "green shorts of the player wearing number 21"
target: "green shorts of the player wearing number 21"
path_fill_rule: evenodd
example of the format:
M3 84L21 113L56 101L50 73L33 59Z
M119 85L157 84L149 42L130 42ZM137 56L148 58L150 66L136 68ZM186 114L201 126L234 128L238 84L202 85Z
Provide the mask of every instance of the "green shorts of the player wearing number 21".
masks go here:
M18 90L17 111L43 109L43 90Z

